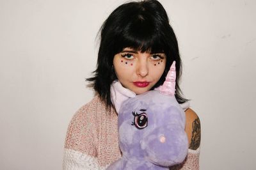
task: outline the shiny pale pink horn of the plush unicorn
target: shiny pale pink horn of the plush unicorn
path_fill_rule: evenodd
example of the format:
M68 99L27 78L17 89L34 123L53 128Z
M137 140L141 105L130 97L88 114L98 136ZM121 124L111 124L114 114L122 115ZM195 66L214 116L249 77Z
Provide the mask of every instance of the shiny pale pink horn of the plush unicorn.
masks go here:
M164 84L155 88L160 93L164 95L174 96L175 95L175 84L176 84L176 67L175 61L173 61L172 66L170 67L169 72L165 78Z

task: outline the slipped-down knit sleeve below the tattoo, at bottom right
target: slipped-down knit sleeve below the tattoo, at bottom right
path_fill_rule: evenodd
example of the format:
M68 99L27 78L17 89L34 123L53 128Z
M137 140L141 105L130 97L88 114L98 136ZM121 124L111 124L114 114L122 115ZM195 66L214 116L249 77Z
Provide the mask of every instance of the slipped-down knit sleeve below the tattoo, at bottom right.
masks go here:
M182 164L178 164L177 166L170 167L170 170L198 170L199 169L199 155L200 148L197 150L188 150L188 155L185 158Z

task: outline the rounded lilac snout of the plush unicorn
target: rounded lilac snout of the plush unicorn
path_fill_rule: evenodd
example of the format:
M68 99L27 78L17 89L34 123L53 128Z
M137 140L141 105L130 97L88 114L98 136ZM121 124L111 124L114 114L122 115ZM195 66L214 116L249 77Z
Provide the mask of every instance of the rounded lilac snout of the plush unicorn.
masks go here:
M141 148L149 162L168 167L184 160L188 153L188 139L181 126L172 124L156 128L150 135L143 136Z

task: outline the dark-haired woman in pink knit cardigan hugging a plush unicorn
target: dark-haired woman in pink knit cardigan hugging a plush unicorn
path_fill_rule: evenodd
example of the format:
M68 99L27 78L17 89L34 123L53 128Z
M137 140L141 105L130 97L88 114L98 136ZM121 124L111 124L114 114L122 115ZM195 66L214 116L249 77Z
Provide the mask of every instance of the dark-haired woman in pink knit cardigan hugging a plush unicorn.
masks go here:
M113 105L116 99L111 98L113 82L122 84L120 93L139 95L163 84L173 61L177 72L175 97L186 112L189 153L182 164L170 169L198 169L200 121L181 95L179 47L163 6L156 0L122 4L109 15L100 33L97 69L94 77L87 79L96 95L70 122L64 169L106 169L120 158Z

